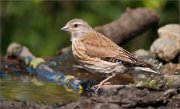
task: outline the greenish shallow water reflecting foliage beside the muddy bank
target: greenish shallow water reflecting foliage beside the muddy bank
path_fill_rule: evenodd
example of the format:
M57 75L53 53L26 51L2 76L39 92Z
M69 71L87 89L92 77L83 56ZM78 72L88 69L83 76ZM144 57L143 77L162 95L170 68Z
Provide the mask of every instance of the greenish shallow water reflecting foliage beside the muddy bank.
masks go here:
M78 101L83 97L78 92L68 92L55 83L42 83L28 76L20 78L6 74L0 79L0 99L23 100L54 104Z

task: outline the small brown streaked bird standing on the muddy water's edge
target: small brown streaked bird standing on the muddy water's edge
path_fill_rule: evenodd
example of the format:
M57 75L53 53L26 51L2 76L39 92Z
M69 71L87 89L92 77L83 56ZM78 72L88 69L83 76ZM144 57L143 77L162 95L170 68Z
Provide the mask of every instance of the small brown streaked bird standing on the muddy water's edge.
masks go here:
M70 33L73 55L79 64L92 73L107 77L97 85L95 92L109 79L118 73L125 73L127 69L159 74L152 65L136 59L82 19L70 20L61 30Z

